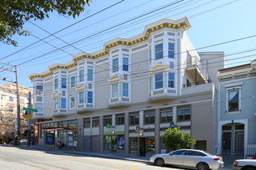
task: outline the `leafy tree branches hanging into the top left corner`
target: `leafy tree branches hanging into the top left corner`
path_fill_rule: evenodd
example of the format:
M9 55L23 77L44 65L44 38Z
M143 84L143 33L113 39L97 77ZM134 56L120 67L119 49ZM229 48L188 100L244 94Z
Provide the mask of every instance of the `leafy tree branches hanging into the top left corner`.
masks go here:
M12 36L29 35L27 30L22 29L29 19L43 20L54 11L75 18L89 2L91 0L0 0L0 42L17 46Z

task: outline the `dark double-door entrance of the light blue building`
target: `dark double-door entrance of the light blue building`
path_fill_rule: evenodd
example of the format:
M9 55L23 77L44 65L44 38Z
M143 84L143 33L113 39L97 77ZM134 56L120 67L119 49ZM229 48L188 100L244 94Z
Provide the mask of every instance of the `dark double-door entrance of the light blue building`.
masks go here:
M230 155L244 153L244 124L222 126L222 153Z

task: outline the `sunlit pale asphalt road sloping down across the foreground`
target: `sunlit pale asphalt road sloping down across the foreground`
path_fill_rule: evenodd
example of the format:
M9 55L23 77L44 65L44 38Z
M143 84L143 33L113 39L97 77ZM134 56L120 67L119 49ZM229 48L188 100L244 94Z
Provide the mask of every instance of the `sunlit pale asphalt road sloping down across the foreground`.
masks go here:
M57 151L36 151L27 148L0 146L0 169L181 170L184 168L173 168L171 166L157 167L144 162L131 162L112 158L69 155Z

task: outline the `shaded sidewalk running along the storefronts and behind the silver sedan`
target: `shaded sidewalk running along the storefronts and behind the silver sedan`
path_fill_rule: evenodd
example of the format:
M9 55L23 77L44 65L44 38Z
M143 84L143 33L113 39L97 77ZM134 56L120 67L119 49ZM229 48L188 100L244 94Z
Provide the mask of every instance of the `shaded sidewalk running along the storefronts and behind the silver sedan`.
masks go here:
M16 146L19 148L29 148L33 150L40 150L40 151L56 151L61 152L65 154L72 154L72 155L85 155L85 156L95 156L99 158L115 158L115 159L123 159L126 161L133 161L133 162L149 162L149 157L134 157L132 155L119 155L119 154L106 154L106 153L100 153L100 152L87 152L87 151L72 151L72 150L59 150L54 149L53 147L43 146L43 145L19 145ZM224 168L221 168L222 170L231 170L232 169L233 162L224 162Z

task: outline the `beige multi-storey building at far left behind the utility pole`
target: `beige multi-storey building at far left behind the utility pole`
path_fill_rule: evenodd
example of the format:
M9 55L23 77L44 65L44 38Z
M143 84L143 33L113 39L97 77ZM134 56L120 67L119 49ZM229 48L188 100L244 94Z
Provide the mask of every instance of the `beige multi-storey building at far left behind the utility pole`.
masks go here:
M20 114L20 132L24 136L27 121L23 117L22 108L27 107L29 100L29 91L32 89L19 86ZM0 144L9 144L15 135L15 118L17 118L17 93L16 84L8 83L0 86Z

